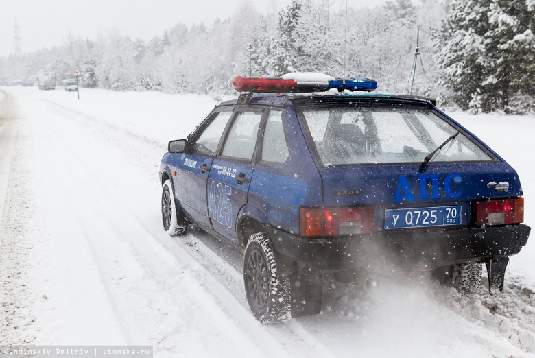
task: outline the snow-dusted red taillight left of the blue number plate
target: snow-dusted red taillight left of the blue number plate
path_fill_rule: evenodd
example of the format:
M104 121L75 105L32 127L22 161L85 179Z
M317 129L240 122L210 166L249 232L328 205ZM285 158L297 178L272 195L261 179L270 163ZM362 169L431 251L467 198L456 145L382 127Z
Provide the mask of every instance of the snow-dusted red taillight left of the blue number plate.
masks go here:
M375 232L375 208L301 208L301 235L334 236Z

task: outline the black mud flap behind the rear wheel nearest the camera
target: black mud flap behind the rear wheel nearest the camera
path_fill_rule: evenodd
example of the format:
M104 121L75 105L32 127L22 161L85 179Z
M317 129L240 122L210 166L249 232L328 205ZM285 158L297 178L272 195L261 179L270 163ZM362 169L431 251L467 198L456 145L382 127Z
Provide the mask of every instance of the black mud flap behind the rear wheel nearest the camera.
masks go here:
M316 315L322 310L323 277L294 275L290 278L292 317Z

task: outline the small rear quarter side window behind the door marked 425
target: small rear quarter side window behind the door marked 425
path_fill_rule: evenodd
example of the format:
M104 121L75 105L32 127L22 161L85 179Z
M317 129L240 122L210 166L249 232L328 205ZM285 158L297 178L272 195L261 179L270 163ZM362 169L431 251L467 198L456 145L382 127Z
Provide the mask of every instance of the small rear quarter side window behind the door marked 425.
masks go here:
M284 164L288 156L289 149L283 129L282 112L281 110L272 110L265 123L261 160L268 163Z

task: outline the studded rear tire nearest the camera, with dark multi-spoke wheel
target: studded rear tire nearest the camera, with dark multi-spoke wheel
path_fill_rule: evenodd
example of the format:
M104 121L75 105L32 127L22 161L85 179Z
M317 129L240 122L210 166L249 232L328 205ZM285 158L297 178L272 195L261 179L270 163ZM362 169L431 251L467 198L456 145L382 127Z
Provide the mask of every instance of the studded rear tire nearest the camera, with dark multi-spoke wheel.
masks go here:
M277 276L277 265L268 235L251 235L243 257L243 281L249 306L263 323L292 318L290 283Z

